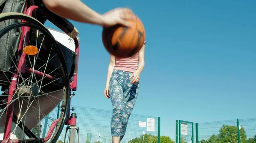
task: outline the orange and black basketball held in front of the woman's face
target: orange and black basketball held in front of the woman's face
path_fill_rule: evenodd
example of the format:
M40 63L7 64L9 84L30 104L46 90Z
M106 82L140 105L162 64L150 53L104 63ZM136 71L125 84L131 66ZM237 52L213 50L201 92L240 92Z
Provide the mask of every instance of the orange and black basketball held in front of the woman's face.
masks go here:
M145 29L139 17L129 21L132 27L116 25L103 28L102 42L113 56L125 58L139 52L145 41Z

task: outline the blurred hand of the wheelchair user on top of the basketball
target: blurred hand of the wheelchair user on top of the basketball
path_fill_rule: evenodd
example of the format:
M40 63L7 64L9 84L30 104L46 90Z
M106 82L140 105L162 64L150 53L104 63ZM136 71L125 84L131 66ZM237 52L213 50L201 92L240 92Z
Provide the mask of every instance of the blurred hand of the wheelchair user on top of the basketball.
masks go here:
M103 14L103 17L105 22L102 26L106 28L118 24L131 27L132 25L128 20L135 20L135 15L128 8L115 8Z

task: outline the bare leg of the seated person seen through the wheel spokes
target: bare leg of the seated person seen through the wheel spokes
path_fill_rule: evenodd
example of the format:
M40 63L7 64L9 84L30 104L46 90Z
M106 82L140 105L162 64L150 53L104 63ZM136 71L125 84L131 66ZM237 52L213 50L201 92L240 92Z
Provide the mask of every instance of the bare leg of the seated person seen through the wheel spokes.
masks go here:
M32 129L39 121L41 121L42 118L48 115L61 102L62 97L63 90L50 93L48 95L41 95L36 98L31 98L30 100L26 97L23 97L23 100L20 98L20 101L15 101L14 114L19 119L22 118L22 121L26 127ZM4 130L5 119L6 115L3 113L0 118L0 133L2 133ZM12 124L12 132L14 129L15 123ZM22 133L22 130L17 127L15 130L15 135L19 136L20 134L22 135Z

